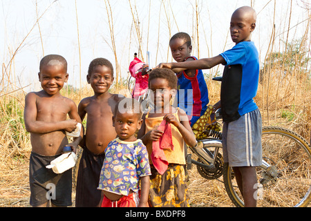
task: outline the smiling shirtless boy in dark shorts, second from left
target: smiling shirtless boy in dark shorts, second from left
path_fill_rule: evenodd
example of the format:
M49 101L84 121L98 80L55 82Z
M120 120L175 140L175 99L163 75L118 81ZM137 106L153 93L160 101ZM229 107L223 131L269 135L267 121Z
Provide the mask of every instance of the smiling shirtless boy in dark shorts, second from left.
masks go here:
M94 95L82 99L78 113L82 121L87 114L86 134L80 146L83 148L79 171L75 206L100 206L101 191L97 190L104 151L117 133L113 128L113 113L122 95L109 93L113 84L113 66L104 58L91 61L86 76Z

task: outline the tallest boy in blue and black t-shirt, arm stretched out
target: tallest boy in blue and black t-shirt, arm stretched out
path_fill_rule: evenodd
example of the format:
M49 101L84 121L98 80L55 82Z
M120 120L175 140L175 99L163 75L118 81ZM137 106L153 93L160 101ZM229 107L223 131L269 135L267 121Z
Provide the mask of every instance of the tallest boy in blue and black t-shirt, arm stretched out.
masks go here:
M225 64L220 92L223 114L224 160L234 169L245 206L256 206L256 170L262 161L261 113L254 102L258 88L258 51L250 35L256 27L256 12L243 6L232 14L230 32L236 43L216 57L182 63L160 64L160 68L212 68Z

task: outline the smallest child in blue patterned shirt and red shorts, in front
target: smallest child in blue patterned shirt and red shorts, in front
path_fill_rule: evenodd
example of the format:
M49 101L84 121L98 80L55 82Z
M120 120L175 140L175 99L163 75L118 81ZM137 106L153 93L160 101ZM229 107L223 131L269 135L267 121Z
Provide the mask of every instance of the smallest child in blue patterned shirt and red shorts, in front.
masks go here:
M142 141L135 137L141 125L140 102L122 99L113 116L118 137L108 144L100 173L98 189L102 190L102 207L148 207L151 175L148 153Z

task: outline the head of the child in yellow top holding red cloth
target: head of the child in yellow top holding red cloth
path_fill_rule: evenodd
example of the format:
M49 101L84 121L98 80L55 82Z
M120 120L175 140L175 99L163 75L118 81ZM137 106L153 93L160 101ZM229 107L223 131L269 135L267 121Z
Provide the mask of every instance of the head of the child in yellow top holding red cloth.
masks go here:
M155 68L149 73L148 87L155 108L164 108L170 104L171 97L176 95L177 77L171 69Z

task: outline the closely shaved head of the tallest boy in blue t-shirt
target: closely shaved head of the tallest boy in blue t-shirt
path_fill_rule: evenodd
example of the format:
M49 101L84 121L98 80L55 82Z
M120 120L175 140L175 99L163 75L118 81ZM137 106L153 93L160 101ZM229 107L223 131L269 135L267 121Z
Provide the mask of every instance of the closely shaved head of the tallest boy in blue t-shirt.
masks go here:
M232 41L250 41L250 35L256 28L256 12L249 6L236 9L231 17L230 32Z

